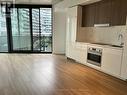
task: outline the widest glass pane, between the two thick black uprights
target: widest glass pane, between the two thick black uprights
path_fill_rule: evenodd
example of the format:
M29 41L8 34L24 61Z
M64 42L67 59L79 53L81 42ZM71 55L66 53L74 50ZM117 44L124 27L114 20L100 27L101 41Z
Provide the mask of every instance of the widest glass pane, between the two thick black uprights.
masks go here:
M31 50L29 9L13 8L11 15L13 50Z

